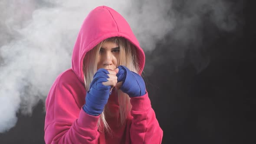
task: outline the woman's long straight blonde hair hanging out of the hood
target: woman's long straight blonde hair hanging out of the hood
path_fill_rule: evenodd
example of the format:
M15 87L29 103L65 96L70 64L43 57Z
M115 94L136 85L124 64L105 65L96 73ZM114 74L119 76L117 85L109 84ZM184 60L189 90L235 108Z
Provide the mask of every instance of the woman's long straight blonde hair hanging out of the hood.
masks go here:
M139 72L138 59L136 55L136 48L132 45L127 39L123 37L111 37L103 40L92 50L86 53L83 60L83 73L84 73L84 82L85 89L89 91L90 83L92 82L93 75L97 71L97 58L100 48L105 42L113 42L120 47L118 65L124 65L133 72ZM120 125L125 124L126 119L131 111L130 98L127 94L118 90L118 102L119 102L119 117ZM105 115L110 114L107 108L108 104L105 105L105 108L100 116L98 121L98 130L107 131L111 133L111 130L106 121Z

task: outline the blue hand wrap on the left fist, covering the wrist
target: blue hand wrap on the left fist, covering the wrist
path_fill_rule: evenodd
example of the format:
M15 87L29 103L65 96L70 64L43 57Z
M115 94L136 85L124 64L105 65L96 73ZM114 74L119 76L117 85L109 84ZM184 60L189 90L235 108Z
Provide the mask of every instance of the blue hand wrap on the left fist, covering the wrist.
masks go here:
M107 82L109 72L106 69L98 69L93 76L90 84L90 90L86 93L85 105L83 110L89 115L100 115L104 106L108 102L110 95L110 85L102 85L102 82Z

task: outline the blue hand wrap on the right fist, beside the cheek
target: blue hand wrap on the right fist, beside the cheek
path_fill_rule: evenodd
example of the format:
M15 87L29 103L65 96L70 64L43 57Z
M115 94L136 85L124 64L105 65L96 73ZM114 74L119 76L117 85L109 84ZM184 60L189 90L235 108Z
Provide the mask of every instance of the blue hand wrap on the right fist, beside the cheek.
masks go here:
M121 90L130 97L138 97L146 94L145 82L140 75L130 71L123 65L118 66L117 81L123 82Z

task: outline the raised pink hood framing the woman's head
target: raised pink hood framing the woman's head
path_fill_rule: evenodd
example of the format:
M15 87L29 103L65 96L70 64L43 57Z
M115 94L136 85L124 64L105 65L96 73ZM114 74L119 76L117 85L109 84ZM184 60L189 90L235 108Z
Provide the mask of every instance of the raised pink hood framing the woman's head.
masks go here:
M131 27L118 12L110 7L100 6L92 10L83 21L72 53L72 70L82 83L84 83L82 65L86 52L104 39L115 36L128 39L137 48L139 74L141 74L145 55Z

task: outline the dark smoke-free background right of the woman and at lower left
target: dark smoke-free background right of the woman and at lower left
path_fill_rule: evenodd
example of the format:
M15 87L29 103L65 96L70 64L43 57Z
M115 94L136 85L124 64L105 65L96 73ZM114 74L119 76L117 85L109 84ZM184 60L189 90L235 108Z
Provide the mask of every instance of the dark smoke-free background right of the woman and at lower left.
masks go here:
M232 32L205 22L199 49L210 62L202 70L190 62L191 50L187 50L182 68L175 70L175 60L169 56L169 47L175 43L164 39L159 48L146 53L145 69L154 65L154 71L148 75L145 71L144 78L164 131L163 144L256 143L255 9L253 0L246 1L238 13L243 24ZM161 62L152 62L158 56ZM42 109L40 102L31 116L17 113L16 126L0 134L0 144L43 144Z

